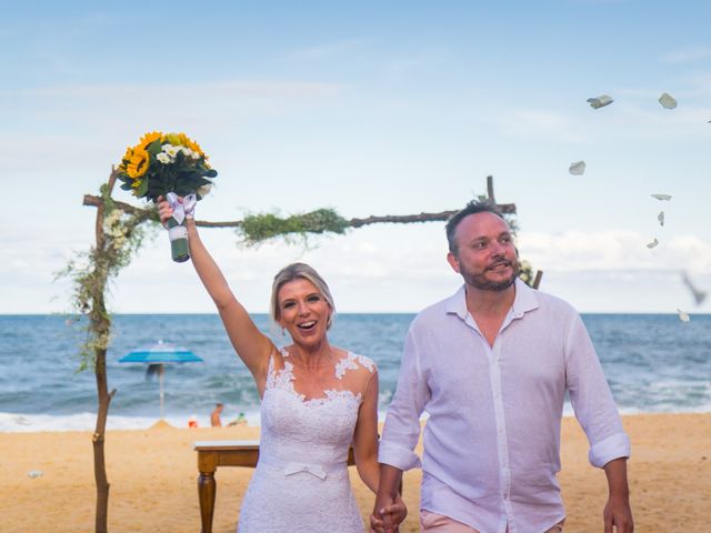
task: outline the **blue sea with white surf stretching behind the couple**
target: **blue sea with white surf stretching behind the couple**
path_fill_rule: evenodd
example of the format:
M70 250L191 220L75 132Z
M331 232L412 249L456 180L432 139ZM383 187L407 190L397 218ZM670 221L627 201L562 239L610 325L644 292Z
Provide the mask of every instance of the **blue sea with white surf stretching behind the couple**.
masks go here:
M402 344L413 314L339 314L332 344L372 358L380 373L379 416L392 399ZM287 340L266 314L252 316L278 345ZM711 412L711 315L583 314L608 382L623 414ZM68 316L0 315L0 431L92 431L97 419L93 370L80 371L81 322ZM209 425L216 403L223 423L242 414L259 425L259 395L217 314L113 316L107 355L108 429L146 429L160 419L159 382L128 352L157 341L182 345L203 361L167 365L164 419L177 428ZM571 415L567 403L564 415Z

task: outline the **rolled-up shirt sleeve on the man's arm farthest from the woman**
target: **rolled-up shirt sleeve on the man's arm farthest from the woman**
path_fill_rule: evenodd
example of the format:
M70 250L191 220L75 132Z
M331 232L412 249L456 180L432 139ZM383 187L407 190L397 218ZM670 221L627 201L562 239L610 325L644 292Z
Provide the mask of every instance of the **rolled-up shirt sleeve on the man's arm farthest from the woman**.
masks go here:
M575 313L569 326L565 380L570 403L588 436L590 463L602 467L613 459L630 456L630 439L580 315Z

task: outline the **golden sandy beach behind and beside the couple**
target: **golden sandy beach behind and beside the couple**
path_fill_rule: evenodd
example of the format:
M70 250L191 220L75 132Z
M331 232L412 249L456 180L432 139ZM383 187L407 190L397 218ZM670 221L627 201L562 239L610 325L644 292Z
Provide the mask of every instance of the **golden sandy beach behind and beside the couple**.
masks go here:
M629 463L635 531L711 531L711 413L640 414L623 419L632 439ZM568 532L601 532L607 485L590 466L574 419L563 420L560 481ZM176 429L158 424L107 435L111 483L109 531L199 532L194 441L258 439L258 428ZM91 532L96 489L90 432L0 433L0 531ZM41 471L30 477L28 472ZM221 467L214 532L236 529L251 469ZM354 469L363 517L372 494ZM420 472L404 477L410 510L401 531L418 531Z

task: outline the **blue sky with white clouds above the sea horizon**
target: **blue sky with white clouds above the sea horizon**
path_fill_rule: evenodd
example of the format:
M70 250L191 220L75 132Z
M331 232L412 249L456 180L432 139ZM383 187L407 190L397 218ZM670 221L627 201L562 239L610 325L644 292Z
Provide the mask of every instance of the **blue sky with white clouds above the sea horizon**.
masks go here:
M581 312L711 311L681 275L711 291L711 3L102 3L3 7L0 313L71 310L71 283L54 278L93 242L83 195L153 130L186 132L218 170L201 220L439 212L493 175L541 290ZM593 110L602 94L613 103ZM213 312L152 233L110 310ZM327 279L340 312L417 312L461 284L440 222L308 247L201 234L251 312L293 261Z

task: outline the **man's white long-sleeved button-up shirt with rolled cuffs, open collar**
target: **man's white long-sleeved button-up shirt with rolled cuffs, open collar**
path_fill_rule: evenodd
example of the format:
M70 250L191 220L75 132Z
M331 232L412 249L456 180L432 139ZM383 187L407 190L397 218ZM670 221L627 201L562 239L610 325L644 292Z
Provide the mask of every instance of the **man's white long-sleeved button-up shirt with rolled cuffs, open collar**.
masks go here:
M520 280L490 346L462 286L422 311L408 332L379 461L420 465L421 509L482 533L540 533L565 513L555 477L565 391L598 467L630 442L588 331L564 301Z

